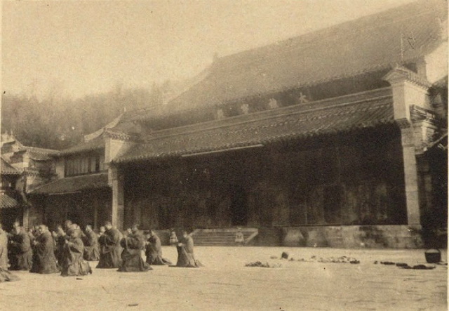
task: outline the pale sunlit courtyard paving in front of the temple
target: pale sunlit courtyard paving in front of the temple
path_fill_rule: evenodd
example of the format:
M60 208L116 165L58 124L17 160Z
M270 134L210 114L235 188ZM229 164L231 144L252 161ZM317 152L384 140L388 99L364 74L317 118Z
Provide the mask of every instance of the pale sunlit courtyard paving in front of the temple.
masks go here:
M288 261L347 256L360 264ZM422 250L348 250L197 246L201 268L156 266L149 272L94 269L87 277L15 272L0 283L0 310L447 310L445 265L406 270L392 261L425 263ZM164 257L176 259L173 247ZM443 260L446 260L443 252ZM281 267L245 267L259 260ZM95 267L96 263L93 263Z

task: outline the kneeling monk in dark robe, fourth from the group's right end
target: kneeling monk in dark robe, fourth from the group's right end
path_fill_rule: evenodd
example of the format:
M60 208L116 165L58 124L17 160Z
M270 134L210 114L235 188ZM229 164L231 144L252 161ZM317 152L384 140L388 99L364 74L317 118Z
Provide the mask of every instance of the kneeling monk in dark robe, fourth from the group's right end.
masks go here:
M98 268L113 268L121 266L121 245L120 240L122 234L119 230L112 227L112 224L105 223L106 231L98 242L100 243L100 261L97 265Z

